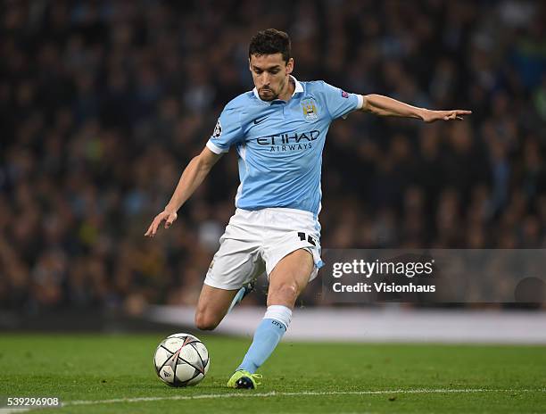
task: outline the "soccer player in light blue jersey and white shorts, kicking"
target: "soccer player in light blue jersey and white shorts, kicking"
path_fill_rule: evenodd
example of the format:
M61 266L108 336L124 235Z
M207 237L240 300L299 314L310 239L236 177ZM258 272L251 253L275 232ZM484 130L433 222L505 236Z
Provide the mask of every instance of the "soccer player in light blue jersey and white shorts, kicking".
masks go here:
M235 388L259 384L256 370L285 334L298 295L323 264L320 170L330 123L356 111L426 122L462 120L471 113L430 111L382 95L350 94L323 81L300 82L292 76L290 38L276 29L252 37L248 55L254 89L226 105L202 153L189 162L170 202L145 233L154 236L163 221L170 228L212 166L236 147L241 181L236 212L220 238L195 312L198 328L214 329L252 280L267 273L268 307L227 382Z

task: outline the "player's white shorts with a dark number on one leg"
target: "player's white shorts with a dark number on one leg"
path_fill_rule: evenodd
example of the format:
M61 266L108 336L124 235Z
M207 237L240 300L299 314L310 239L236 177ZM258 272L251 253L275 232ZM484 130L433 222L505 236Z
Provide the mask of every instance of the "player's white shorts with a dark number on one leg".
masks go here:
M235 290L269 274L287 254L306 249L315 263L310 280L317 277L320 259L320 224L310 211L268 208L236 209L229 219L220 247L211 261L204 284Z

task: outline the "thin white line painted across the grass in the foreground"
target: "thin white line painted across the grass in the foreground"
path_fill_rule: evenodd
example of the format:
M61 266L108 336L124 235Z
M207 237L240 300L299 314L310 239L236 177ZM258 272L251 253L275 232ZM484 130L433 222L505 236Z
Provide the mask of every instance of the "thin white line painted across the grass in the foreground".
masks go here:
M62 406L72 405L98 405L98 404L116 404L118 402L157 402L157 401L179 401L179 400L210 400L222 398L262 398L262 397L293 397L293 396L321 396L321 395L376 395L388 393L546 393L546 388L535 390L494 390L486 388L467 388L467 389L415 389L415 390L377 390L377 391L302 391L300 393L205 393L201 395L173 395L171 397L136 397L136 398L116 398L112 400L78 400L72 402L63 402Z

